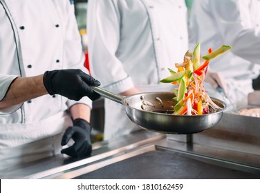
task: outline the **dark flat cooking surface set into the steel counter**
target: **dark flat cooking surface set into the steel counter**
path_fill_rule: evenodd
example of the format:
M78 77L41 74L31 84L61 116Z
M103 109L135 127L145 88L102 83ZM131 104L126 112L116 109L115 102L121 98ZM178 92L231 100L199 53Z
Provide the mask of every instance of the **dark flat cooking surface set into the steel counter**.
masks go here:
M124 156L130 155L124 154ZM59 178L68 179L70 176L73 179L259 179L260 177L260 174L237 169L228 167L228 161L215 159L212 164L212 160L207 157L163 150L160 146L151 145L137 150L135 156L127 159L117 157L114 163L99 170L90 171L90 167L84 167Z

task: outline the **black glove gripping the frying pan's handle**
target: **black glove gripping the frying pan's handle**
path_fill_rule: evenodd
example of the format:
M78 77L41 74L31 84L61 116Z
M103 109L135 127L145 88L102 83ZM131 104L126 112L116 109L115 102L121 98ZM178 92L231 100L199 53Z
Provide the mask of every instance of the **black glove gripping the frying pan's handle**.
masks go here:
M52 70L44 73L44 86L50 95L60 94L79 101L83 96L89 99L100 98L91 89L91 85L98 86L100 82L79 69Z

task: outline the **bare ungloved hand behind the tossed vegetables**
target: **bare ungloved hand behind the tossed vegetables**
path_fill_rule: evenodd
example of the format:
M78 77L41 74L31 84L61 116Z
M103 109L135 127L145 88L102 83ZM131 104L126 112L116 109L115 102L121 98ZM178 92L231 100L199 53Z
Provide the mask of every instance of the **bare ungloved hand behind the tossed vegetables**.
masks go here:
M214 72L212 70L208 70L206 77L205 77L205 82L210 83L213 88L218 88L221 87L225 91L225 93L228 92L227 85L225 83L225 80L221 76L219 72Z

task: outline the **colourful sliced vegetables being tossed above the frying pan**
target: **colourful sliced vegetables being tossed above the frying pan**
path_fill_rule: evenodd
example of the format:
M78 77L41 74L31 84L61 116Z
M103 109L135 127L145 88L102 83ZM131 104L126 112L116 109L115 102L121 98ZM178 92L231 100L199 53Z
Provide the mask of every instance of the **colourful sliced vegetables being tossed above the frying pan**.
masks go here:
M174 90L176 94L174 100L177 101L174 106L174 114L208 114L210 108L214 111L220 109L207 95L203 82L210 60L231 48L230 45L222 45L214 51L210 48L208 54L201 58L201 43L198 43L194 52L185 53L183 63L175 63L177 72L169 69L171 76L160 82L178 85L178 88Z

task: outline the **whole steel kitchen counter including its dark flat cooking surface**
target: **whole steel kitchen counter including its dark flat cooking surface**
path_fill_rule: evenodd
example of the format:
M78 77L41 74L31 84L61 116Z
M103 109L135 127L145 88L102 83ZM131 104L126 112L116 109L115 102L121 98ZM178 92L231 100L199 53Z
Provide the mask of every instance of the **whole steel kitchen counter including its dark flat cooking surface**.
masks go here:
M226 121L225 117L223 121ZM111 141L94 143L93 154L90 157L70 159L58 154L9 168L4 174L0 174L0 177L1 179L260 179L260 154L257 151L247 152L246 148L242 151L230 148L238 145L238 142L221 139L221 143L220 139L215 139L218 132L219 127L189 135L159 134L140 130ZM240 142L238 147L248 143L248 141Z

